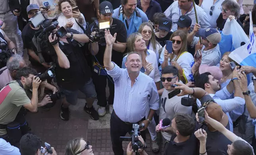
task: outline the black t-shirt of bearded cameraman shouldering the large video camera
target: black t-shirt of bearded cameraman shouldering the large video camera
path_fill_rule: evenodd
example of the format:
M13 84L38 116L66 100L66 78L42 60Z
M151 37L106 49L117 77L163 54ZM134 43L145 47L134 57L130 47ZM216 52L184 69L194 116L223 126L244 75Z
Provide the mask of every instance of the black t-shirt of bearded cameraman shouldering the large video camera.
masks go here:
M67 28L67 32L81 34L77 30ZM70 68L57 66L55 69L57 84L68 90L78 90L91 78L91 70L76 40L67 38L68 43L59 42L59 47L67 56Z

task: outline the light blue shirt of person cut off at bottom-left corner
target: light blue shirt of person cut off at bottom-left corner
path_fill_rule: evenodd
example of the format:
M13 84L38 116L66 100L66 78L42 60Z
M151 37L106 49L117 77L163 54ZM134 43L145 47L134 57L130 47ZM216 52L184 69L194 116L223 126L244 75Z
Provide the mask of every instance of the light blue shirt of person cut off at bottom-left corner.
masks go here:
M0 155L20 155L19 149L0 138Z

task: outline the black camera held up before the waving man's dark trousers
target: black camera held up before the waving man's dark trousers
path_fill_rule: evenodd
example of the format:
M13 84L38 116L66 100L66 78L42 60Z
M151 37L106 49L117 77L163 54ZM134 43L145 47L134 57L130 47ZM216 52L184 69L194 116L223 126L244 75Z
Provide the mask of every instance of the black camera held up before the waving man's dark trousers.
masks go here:
M138 124L132 124L132 131L130 133L130 137L120 137L120 140L122 141L128 141L132 142L132 149L136 153L136 155L139 155L138 149L142 148L144 145L140 142L139 137L140 136L140 130L145 127L144 123L141 125Z

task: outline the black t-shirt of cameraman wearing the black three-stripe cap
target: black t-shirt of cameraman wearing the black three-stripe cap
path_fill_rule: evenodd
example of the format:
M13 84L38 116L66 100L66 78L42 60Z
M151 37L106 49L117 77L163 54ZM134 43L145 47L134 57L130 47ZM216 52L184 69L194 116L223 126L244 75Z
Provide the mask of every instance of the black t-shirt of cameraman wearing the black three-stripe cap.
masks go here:
M115 19L115 18L112 18L112 19L113 19L113 22L112 22L112 25L111 25L111 28L109 29L109 31L112 36L114 36L114 34L116 33L115 43L116 42L126 43L127 32L126 32L124 23L122 21L120 21L119 19ZM91 34L92 29L95 27L97 27L96 23L95 22L91 23L91 25L89 25L89 27L87 28L87 34ZM99 52L97 53L97 55L95 55L95 57L97 58L97 60L101 64L101 66L103 66L103 57L104 57L105 48L106 48L105 45L102 46L99 44ZM113 62L115 62L119 67L121 67L123 55L124 55L124 53L115 51L113 49L111 60Z

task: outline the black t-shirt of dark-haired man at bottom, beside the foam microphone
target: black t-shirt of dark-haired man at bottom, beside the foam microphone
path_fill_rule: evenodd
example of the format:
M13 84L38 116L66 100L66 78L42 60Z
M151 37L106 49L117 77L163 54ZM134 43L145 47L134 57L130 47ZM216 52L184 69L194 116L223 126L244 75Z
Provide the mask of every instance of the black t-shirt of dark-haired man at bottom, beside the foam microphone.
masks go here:
M167 149L164 155L198 155L198 140L193 133L188 140L181 143L174 142L176 135L171 136L171 140L168 143ZM207 152L208 153L208 152Z

